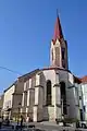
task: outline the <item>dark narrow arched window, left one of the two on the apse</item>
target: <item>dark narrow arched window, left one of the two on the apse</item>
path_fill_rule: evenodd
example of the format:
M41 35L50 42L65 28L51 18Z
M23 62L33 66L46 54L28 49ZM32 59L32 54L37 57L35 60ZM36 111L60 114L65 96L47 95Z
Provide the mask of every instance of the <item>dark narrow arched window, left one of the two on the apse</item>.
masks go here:
M47 81L47 106L51 105L51 81Z

